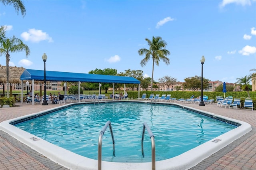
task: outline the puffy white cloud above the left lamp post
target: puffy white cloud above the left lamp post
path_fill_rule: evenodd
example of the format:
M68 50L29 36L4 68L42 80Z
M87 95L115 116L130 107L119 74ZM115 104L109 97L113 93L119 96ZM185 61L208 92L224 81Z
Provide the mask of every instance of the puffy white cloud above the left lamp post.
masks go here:
M25 41L40 42L48 40L48 42L53 42L52 38L46 32L42 32L42 30L36 30L34 28L29 29L28 32L23 32L20 36Z

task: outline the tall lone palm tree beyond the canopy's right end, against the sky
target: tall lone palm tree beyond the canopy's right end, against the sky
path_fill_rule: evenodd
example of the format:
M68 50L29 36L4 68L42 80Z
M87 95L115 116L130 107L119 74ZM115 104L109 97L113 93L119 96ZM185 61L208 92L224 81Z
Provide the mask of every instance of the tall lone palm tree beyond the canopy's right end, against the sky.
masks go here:
M153 91L153 75L154 75L154 64L159 65L159 61L162 60L166 65L170 64L170 59L166 57L170 55L170 51L165 49L167 43L162 40L161 37L152 37L152 41L148 38L145 39L148 42L149 49L142 48L138 50L139 55L145 55L145 58L140 61L140 65L145 66L150 58L152 57L152 77L151 77L151 91Z

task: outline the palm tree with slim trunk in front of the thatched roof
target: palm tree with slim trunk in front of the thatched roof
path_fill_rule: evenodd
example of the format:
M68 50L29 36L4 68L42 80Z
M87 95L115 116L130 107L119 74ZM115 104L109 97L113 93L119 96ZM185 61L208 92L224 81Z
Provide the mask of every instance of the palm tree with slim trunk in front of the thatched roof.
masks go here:
M26 52L26 57L30 54L30 49L28 45L24 44L22 40L13 36L12 38L4 38L0 43L0 55L5 55L6 57L6 83L7 83L7 97L9 97L9 62L10 53L15 52Z

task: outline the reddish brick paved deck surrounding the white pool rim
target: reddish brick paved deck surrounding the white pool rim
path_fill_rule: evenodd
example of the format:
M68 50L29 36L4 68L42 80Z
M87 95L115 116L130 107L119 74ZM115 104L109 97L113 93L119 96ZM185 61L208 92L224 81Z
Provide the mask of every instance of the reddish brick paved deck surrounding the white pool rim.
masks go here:
M216 107L216 103L205 106L186 103L182 103L182 105L230 117L252 125L250 132L212 154L190 170L256 170L256 111L224 109ZM58 106L23 104L20 107L0 108L0 122ZM68 170L2 130L0 130L0 169Z

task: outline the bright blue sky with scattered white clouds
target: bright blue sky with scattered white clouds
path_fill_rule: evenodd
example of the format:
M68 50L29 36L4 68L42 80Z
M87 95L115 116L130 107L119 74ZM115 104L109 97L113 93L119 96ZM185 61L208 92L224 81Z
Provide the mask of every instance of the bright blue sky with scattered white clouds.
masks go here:
M256 69L256 0L28 0L26 16L0 4L6 36L30 47L11 53L10 66L88 73L112 68L152 75L152 59L140 66L145 38L160 36L168 44L170 65L154 67L154 79L166 75L184 82L201 76L235 83ZM0 64L6 65L5 56Z

